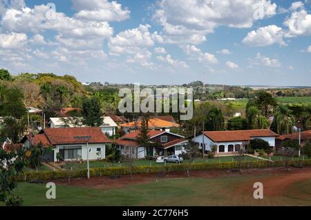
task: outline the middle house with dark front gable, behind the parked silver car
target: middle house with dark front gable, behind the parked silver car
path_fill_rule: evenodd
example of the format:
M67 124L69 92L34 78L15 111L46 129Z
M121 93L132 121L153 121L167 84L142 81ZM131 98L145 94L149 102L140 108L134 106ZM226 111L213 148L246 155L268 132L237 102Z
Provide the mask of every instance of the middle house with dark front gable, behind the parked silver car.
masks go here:
M179 134L173 134L164 130L149 130L150 146L140 146L138 136L140 130L125 134L113 143L124 155L132 152L134 158L156 157L156 155L182 154L185 152L187 140Z

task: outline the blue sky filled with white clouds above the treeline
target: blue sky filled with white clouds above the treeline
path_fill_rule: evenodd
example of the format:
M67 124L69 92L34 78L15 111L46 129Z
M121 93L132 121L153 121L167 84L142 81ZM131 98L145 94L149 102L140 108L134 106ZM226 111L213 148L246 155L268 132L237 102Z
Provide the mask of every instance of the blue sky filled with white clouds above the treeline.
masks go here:
M0 0L0 68L82 82L311 86L311 0Z

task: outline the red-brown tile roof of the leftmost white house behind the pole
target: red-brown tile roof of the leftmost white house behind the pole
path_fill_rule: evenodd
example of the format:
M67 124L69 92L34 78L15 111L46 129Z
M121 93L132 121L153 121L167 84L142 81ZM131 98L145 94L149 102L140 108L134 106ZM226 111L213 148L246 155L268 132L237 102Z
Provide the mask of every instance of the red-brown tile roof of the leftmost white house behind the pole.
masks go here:
M46 128L44 134L53 145L71 144L71 143L109 143L106 135L99 127L84 127L84 128ZM85 137L79 139L78 137Z

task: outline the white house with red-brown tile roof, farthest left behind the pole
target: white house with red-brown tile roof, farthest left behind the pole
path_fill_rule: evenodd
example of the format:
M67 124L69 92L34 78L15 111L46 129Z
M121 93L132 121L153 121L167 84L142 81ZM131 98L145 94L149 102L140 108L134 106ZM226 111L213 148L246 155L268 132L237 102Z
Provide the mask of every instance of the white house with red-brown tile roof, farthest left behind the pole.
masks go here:
M87 142L87 143L86 143ZM25 136L21 143L26 148L42 143L44 148L51 146L52 152L46 155L46 161L57 161L57 153L64 160L86 160L87 146L90 150L88 159L104 159L106 143L110 143L99 127L84 128L46 128L33 137Z

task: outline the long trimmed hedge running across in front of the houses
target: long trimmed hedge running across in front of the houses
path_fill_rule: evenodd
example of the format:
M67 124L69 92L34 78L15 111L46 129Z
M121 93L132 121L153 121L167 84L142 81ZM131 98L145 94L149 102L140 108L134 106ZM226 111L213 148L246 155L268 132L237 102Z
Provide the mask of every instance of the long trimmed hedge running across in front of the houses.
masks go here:
M242 168L268 168L285 166L285 161L243 161ZM311 166L311 159L304 161L290 160L288 166ZM160 172L174 172L189 170L225 170L238 168L237 162L223 162L223 163L180 163L171 166L133 166L133 174L156 174ZM91 168L91 177L123 175L130 174L130 167L110 167L110 168ZM86 177L86 170L66 170L66 171L40 171L40 172L25 172L19 177L17 181L32 181L35 179L51 180L62 178L77 178Z

